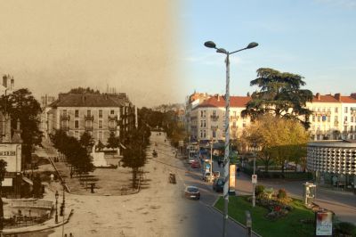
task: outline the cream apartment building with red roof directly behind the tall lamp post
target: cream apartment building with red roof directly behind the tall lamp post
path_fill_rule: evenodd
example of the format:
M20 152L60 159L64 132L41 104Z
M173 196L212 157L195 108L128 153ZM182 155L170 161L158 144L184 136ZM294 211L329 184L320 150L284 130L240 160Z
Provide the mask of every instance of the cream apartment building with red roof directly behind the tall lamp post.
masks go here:
M242 118L241 111L251 100L249 96L230 97L230 134L231 139L237 139L250 119ZM215 94L191 110L190 140L191 141L221 141L225 138L225 99Z

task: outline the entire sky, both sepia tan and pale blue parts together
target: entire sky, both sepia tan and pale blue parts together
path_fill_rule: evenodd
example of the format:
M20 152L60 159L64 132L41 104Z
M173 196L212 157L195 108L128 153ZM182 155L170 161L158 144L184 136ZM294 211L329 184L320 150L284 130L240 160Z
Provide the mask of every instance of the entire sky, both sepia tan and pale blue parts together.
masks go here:
M77 86L125 92L137 106L185 102L194 91L256 88L256 69L299 74L315 94L356 92L356 1L0 0L0 73L36 98Z

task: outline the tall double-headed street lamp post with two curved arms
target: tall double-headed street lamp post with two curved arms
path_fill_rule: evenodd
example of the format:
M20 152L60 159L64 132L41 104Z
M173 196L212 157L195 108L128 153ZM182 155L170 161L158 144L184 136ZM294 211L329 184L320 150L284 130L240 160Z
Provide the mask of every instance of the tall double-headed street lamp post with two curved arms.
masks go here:
M247 47L233 51L233 52L228 52L223 48L217 48L215 43L213 41L206 41L204 45L208 48L214 48L216 49L216 53L223 53L226 55L225 59L225 64L226 64L226 93L225 93L225 155L223 158L223 176L224 176L224 185L223 185L223 237L226 236L226 222L228 219L228 203L229 203L229 143L230 143L230 127L229 127L229 119L230 119L230 60L229 56L232 53L238 53L240 51L250 49L250 48L255 48L258 44L255 42L252 42L247 45Z

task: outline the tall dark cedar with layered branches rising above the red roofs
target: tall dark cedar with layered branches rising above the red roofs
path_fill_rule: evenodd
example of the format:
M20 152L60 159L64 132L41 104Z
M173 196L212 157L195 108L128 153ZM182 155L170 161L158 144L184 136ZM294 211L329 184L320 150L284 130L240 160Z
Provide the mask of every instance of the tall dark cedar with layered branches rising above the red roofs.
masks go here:
M305 108L306 102L312 101L312 92L301 89L305 86L300 75L279 72L275 69L257 69L257 78L250 82L251 86L260 87L251 95L247 102L244 116L256 119L263 114L271 114L286 119L297 119L305 128L310 127L311 110Z

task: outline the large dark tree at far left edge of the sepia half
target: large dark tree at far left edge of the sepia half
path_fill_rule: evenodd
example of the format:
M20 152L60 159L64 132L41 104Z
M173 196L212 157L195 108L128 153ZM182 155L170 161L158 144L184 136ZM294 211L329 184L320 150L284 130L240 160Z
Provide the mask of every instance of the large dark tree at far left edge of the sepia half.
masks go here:
M6 110L11 117L12 130L16 129L20 120L22 155L30 163L31 152L35 145L41 145L42 142L42 132L39 130L41 106L26 88L3 95L0 101L1 110Z

